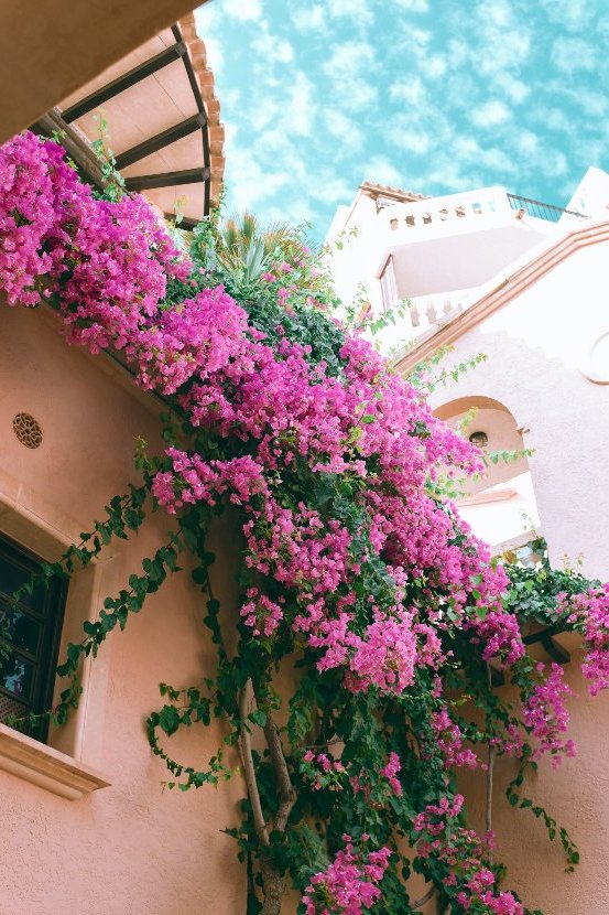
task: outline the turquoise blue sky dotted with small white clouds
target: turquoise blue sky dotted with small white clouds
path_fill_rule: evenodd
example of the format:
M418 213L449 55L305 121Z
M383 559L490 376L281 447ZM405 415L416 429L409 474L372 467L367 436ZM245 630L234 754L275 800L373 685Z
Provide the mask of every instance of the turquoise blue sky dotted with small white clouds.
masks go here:
M210 0L227 203L324 237L363 180L565 205L609 165L607 0Z

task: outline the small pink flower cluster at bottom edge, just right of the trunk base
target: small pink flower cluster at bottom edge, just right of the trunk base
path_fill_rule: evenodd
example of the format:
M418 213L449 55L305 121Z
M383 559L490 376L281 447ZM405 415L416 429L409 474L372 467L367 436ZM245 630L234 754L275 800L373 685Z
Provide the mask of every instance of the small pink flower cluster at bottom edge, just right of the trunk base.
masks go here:
M362 836L367 841L368 836ZM360 853L344 836L345 848L335 857L325 871L311 878L302 902L306 915L361 915L380 898L378 884L388 868L391 850L381 848Z

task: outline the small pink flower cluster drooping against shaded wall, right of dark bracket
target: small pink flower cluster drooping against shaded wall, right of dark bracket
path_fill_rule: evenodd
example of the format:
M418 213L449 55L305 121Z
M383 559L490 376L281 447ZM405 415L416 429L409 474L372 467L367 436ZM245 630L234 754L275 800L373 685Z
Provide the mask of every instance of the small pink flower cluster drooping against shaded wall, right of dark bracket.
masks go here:
M539 674L544 670L545 665L539 664ZM545 680L534 687L522 708L522 721L536 741L533 758L551 753L554 768L561 763L561 754L575 756L576 753L575 743L572 740L565 741L562 736L569 721L565 699L573 695L564 681L563 668L552 664Z

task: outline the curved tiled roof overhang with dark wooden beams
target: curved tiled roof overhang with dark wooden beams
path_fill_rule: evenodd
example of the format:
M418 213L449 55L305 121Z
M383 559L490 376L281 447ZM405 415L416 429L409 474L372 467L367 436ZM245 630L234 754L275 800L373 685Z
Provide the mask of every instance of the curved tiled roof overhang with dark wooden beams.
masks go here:
M33 126L64 134L68 153L91 183L101 171L90 143L109 146L129 191L142 192L184 226L215 205L224 175L224 128L214 75L192 14L140 45L65 98Z

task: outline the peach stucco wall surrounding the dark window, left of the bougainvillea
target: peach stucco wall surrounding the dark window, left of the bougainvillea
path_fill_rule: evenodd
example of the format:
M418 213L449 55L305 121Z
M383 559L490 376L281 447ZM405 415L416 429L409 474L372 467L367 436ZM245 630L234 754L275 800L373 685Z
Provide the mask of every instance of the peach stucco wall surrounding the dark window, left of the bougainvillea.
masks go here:
M66 346L53 315L2 306L0 532L48 555L77 538L109 496L137 481L134 437L160 446L160 406L107 360ZM12 418L21 411L43 428L36 450L13 435ZM100 563L104 585L120 586L170 527L161 512L132 542L112 546ZM214 581L230 609L229 542L235 538L216 532ZM68 625L77 629L74 615L86 613L73 601ZM244 911L243 872L232 840L220 832L237 820L239 776L218 789L162 792L167 774L143 731L145 715L162 704L159 681L191 686L211 669L204 615L203 595L187 571L180 573L123 633L112 633L90 665L77 722L52 742L99 769L111 787L69 801L0 772L2 915ZM219 739L214 729L193 729L174 738L172 750L205 765Z

